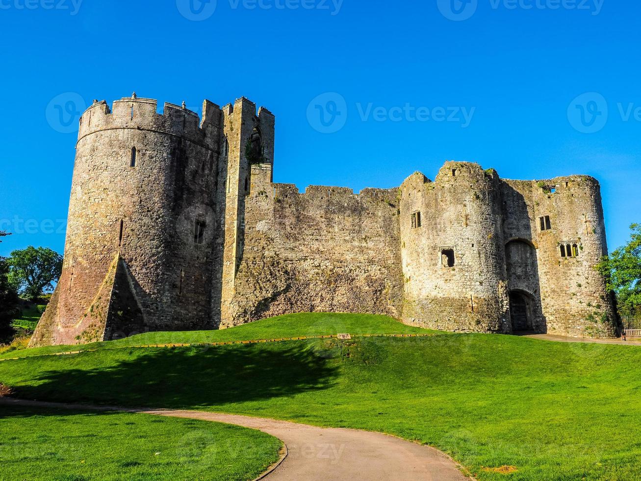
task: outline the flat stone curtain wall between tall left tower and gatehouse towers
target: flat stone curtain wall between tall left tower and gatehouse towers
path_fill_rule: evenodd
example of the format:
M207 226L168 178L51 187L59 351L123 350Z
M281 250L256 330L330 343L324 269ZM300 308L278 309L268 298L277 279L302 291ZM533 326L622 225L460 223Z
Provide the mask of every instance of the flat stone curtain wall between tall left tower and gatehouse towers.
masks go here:
M266 179L265 179L266 180ZM233 315L222 326L289 312L398 317L397 189L252 184Z

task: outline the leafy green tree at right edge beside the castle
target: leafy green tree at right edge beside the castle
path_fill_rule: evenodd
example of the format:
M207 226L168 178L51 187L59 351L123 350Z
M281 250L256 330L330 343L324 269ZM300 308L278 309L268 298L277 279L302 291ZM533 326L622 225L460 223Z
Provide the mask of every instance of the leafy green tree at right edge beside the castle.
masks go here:
M619 312L641 315L641 224L632 224L625 246L605 257L597 269L608 279L608 289L617 294Z

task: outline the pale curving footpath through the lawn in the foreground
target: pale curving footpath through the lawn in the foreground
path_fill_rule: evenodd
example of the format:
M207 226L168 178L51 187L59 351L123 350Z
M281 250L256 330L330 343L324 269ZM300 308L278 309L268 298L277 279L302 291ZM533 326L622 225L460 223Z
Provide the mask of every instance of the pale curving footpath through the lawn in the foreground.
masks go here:
M275 419L170 409L124 409L0 398L0 405L76 410L119 410L217 421L257 429L278 437L287 455L265 479L276 480L469 480L451 458L438 450L367 431L318 428ZM399 413L399 415L402 415Z

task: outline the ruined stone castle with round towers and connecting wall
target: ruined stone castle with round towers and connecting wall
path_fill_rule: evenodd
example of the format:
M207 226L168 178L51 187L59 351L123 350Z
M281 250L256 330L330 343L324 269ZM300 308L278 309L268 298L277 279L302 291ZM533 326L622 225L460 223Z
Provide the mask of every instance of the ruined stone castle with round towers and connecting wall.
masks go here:
M446 162L395 189L272 182L274 115L125 97L82 115L62 277L31 346L367 312L612 337L599 183Z

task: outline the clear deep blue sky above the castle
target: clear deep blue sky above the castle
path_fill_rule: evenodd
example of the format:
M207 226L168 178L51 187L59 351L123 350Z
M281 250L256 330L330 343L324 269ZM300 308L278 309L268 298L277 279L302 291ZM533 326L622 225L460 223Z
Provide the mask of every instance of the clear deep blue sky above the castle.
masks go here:
M638 2L74 1L0 0L0 228L18 232L0 255L62 253L76 133L58 119L133 90L265 105L274 180L301 190L394 187L467 160L504 178L599 178L610 248L641 221Z

